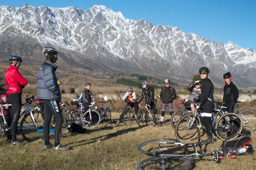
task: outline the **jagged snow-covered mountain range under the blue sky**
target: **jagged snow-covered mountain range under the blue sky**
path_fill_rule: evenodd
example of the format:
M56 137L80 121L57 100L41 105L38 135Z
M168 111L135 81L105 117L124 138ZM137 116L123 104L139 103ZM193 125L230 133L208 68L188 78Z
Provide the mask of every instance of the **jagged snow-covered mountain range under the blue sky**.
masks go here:
M42 61L45 46L56 47L60 62L70 66L156 74L180 81L208 66L216 83L223 84L222 75L228 71L239 86L256 83L256 51L231 41L210 42L178 27L130 20L105 6L88 10L0 6L1 58L16 53L25 61Z

